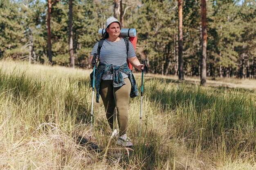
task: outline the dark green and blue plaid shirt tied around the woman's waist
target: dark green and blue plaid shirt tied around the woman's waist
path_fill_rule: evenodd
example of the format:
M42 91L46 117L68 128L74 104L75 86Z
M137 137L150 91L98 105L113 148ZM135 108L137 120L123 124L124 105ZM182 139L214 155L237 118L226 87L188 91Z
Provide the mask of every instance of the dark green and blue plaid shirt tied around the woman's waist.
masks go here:
M121 66L113 66L112 64L103 64L99 62L99 65L97 67L97 71L95 73L95 88L96 88L96 102L99 103L99 88L101 85L101 79L103 75L108 75L112 74L113 75L113 87L121 87L126 82L124 81L124 78L121 74L121 71L128 75L128 78L130 79L132 88L130 92L130 97L136 97L139 96L139 92L137 89L137 84L135 81L135 78L130 71L130 68L128 67L127 63L123 64ZM92 84L92 79L91 79L91 84Z

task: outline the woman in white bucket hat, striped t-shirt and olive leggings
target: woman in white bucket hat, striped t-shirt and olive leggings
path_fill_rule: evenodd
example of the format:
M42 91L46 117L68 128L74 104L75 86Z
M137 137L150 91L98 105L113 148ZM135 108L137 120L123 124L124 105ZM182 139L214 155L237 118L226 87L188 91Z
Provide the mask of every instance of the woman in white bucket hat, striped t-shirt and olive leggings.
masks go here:
M134 76L127 65L127 60L139 71L144 67L137 59L131 42L129 42L127 53L125 40L120 34L121 27L121 23L114 17L106 20L106 32L101 36L104 41L99 55L100 62L95 74L96 102L99 102L100 95L112 131L117 115L119 126L117 144L132 146L130 138L126 135L128 105L130 97L136 97L139 94ZM98 44L99 42L94 45L90 54L90 65L92 65L94 53L98 53ZM117 108L117 113L115 113L115 108Z

